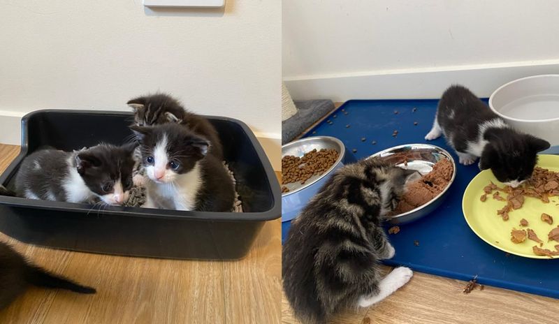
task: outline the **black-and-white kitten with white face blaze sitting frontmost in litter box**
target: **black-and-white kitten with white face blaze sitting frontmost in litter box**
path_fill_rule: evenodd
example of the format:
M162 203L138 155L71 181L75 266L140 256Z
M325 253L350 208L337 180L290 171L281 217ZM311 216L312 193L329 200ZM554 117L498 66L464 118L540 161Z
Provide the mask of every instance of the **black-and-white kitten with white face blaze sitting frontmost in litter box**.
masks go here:
M211 144L177 124L131 126L140 140L146 183L142 207L231 212L235 189Z

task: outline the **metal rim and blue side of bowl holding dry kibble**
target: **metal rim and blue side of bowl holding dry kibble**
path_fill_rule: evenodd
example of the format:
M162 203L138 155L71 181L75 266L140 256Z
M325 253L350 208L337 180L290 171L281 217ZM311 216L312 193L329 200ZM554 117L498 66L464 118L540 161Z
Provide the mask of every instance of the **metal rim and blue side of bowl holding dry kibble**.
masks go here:
M314 197L326 183L335 170L342 168L344 164L355 161L355 157L347 149L341 140L331 136L314 136L290 142L282 146L282 158L287 155L302 157L313 149L335 149L339 156L335 163L321 175L314 175L307 179L305 184L293 182L282 184L289 189L289 192L282 193L282 221L291 221L300 212L307 202Z

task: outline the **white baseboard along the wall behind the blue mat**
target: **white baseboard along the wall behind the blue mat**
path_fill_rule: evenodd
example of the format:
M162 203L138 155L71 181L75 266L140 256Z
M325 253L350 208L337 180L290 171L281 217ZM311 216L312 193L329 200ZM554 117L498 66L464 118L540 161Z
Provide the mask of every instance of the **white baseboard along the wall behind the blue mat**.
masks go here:
M439 98L451 84L463 84L488 97L502 84L529 75L559 73L559 60L442 66L390 71L363 71L284 78L296 100L385 98Z

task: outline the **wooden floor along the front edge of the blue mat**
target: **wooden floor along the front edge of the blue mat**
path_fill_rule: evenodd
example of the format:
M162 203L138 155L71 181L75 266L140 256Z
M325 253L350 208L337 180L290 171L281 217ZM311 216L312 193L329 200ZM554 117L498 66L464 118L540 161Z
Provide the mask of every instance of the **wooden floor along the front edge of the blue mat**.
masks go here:
M341 104L335 103L335 107ZM391 269L384 267L385 272ZM331 323L559 323L559 300L488 286L466 295L462 292L466 284L465 281L414 272L406 286L380 304L368 309L347 309L332 318ZM284 295L282 323L299 323L293 318Z

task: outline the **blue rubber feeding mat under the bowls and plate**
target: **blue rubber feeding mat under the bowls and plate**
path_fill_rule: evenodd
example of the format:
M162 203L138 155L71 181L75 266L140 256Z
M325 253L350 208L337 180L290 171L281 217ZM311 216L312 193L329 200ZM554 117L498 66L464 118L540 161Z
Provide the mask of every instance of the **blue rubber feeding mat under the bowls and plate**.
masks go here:
M330 135L339 138L347 149L357 150L354 153L357 159L395 145L427 143L423 137L433 124L437 102L347 101L305 137ZM398 135L393 137L395 130ZM467 184L479 172L477 163L458 165L458 156L443 138L428 143L453 154L457 164L456 179L449 196L435 212L400 226L400 233L389 235L396 254L384 263L460 280L470 280L477 275L477 281L482 284L559 298L559 259L513 256L479 239L467 226L462 213L462 196ZM289 225L289 222L282 223L282 239ZM419 241L419 246L414 245L415 240Z

